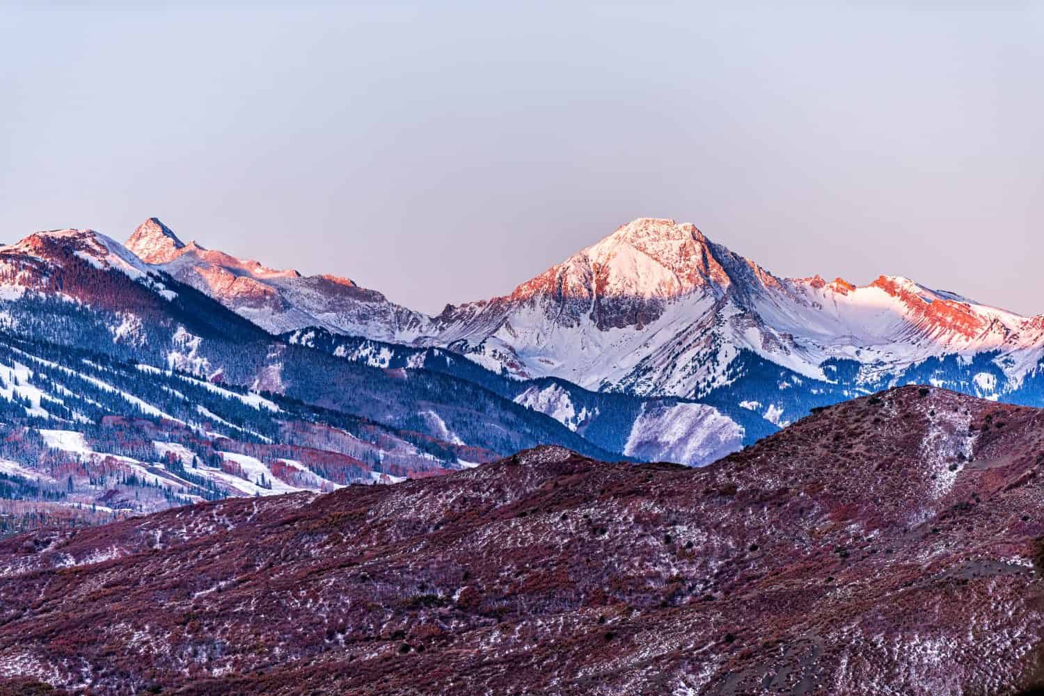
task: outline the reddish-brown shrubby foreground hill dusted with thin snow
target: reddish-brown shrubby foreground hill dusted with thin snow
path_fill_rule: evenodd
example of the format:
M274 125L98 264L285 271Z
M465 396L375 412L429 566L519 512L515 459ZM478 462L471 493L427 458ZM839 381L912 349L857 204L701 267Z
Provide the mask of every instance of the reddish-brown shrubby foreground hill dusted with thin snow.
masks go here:
M702 470L523 452L0 544L0 674L100 694L1004 694L1044 412L927 387Z

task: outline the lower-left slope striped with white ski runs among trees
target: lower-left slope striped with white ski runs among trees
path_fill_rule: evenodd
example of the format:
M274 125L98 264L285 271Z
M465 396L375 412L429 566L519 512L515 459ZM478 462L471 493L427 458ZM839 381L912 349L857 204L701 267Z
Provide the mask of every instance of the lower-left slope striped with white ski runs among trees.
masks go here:
M201 500L390 483L497 456L3 333L0 432L0 531L31 520L95 523Z

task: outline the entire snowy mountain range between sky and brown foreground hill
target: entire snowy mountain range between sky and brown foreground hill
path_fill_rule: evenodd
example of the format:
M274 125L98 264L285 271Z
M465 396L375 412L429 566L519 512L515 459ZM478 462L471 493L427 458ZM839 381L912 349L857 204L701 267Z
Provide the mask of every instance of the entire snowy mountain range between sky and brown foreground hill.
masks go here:
M1042 327L905 279L777 278L665 219L437 316L157 218L125 244L41 232L0 247L0 483L32 502L0 505L113 519L539 445L703 465L906 383L1042 405Z

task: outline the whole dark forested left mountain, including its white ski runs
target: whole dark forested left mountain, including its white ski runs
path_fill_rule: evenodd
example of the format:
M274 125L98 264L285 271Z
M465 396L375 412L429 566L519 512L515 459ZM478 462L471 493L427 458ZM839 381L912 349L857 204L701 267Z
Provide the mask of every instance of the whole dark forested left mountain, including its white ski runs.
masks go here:
M15 347L18 341L27 341L29 347ZM384 473L382 467L393 467L398 477L477 465L549 441L604 458L617 454L472 381L425 370L407 375L289 344L90 230L35 233L0 247L0 346L4 347L0 412L7 414L0 425L16 440L28 437L37 442L43 437L44 442L55 442L50 448L57 452L53 456L64 459L55 465L72 466L76 476L70 486L87 486L91 497L108 495L90 483L98 479L92 466L109 465L104 457L91 455L91 461L79 461L86 446L58 446L79 442L109 417L155 418L160 432L166 432L170 428L162 423L165 414L179 413L182 430L216 432L233 439L263 432L275 446L287 448L303 437L321 442L325 437L352 452L365 450L367 466L378 475ZM272 392L294 407L270 417L255 417L242 409L230 415L221 399L216 404L197 399L205 411L186 411L184 397L191 389L181 387L179 375L191 379L197 392L208 383L214 390ZM66 386L72 383L74 389ZM100 397L95 393L99 389ZM281 419L289 425L279 426ZM303 435L302 429L311 427L303 424L313 421L331 427L319 428L323 436ZM377 428L372 431L376 446L336 442L359 439L358 433L349 431L360 422ZM244 427L252 432L240 430ZM379 432L382 427L387 429L384 433ZM56 434L48 440L51 435L42 436L42 431ZM44 445L16 448L7 456L19 481L25 472L49 477L43 486L19 482L16 493L45 497L82 493L78 487L66 491L51 480L54 477L46 471L50 459L40 456L47 450ZM288 452L283 457L293 459ZM124 461L118 467L162 465L163 456L146 443L134 453L135 462ZM628 458L622 452L618 456ZM272 472L252 465L266 479L272 478ZM0 467L0 474L3 471ZM218 473L214 476L220 478ZM366 480L369 474L360 467L349 480L360 476ZM253 481L247 483L245 489L256 490ZM198 495L197 487L181 481L165 485ZM231 487L244 489L238 483ZM113 495L122 496L122 490ZM135 486L127 490L137 493ZM160 504L183 500L177 490ZM89 497L78 500L97 502Z

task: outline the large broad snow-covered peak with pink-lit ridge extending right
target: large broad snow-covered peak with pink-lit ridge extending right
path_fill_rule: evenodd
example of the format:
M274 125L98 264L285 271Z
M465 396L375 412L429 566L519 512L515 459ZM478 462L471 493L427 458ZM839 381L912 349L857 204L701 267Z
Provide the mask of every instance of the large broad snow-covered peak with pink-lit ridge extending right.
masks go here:
M428 342L508 374L690 398L735 382L750 360L832 383L834 361L867 382L929 359L967 365L997 353L1017 384L1044 357L1044 317L900 275L868 285L776 277L665 218L621 225L508 296L449 306L433 328Z

